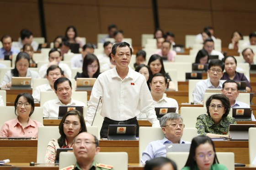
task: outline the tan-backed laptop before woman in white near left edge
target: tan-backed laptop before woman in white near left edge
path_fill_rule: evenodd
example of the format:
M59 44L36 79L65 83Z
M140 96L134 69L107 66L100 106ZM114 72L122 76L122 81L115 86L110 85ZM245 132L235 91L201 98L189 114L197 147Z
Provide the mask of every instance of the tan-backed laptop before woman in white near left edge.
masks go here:
M31 89L31 77L12 77L11 89Z

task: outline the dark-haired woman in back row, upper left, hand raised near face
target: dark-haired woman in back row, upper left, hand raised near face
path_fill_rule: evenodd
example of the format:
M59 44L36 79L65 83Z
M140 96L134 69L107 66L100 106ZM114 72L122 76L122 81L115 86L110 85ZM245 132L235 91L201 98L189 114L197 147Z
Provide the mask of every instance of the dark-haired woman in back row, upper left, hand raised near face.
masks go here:
M68 26L66 31L65 31L65 38L69 41L69 43L71 44L79 44L80 47L84 46L84 42L82 41L82 39L77 36L77 31L75 26Z

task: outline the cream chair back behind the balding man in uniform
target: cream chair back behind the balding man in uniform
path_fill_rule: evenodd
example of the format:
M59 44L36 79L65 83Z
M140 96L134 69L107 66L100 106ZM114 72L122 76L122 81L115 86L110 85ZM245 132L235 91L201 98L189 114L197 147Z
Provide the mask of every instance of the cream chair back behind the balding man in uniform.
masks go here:
M126 152L99 152L94 160L101 164L112 165L115 170L128 170L128 154ZM72 152L61 152L59 170L74 165L75 155Z

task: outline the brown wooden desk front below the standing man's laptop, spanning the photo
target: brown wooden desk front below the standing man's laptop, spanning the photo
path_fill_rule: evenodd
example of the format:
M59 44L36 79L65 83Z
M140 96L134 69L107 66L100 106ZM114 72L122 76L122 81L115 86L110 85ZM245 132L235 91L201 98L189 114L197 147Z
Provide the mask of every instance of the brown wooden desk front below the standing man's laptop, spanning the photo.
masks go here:
M235 162L249 164L248 141L213 141L217 152L234 152ZM127 152L128 163L139 163L139 140L100 140L101 152ZM37 140L0 140L0 160L37 161Z

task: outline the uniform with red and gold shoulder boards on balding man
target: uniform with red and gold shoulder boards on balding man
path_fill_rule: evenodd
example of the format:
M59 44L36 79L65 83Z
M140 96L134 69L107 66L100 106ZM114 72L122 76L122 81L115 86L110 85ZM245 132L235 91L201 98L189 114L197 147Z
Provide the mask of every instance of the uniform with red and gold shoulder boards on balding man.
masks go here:
M76 162L75 165L70 165L61 170L82 170L82 169L79 167L79 165ZM114 169L113 169L113 166L111 165L99 164L99 163L96 163L95 160L93 160L89 170L114 170Z

